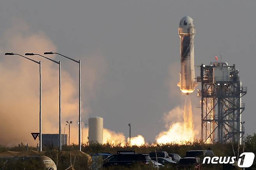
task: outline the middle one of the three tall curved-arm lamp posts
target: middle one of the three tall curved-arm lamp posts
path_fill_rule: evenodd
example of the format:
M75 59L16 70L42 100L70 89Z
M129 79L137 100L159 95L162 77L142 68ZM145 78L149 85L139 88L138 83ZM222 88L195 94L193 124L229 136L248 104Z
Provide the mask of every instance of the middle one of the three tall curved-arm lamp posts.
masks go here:
M61 62L60 61L55 61L53 59L42 56L40 54L33 54L33 53L26 53L25 54L25 56L35 56L35 55L44 57L45 59L53 61L56 64L59 64L59 150L61 151Z

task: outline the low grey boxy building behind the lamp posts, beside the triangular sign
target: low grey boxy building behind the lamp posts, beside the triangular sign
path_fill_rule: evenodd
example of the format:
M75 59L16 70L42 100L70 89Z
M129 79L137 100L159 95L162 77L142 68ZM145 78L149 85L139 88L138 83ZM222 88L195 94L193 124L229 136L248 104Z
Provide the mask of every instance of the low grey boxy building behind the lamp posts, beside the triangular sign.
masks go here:
M67 145L67 134L61 134L61 145ZM42 134L42 146L58 147L59 134Z

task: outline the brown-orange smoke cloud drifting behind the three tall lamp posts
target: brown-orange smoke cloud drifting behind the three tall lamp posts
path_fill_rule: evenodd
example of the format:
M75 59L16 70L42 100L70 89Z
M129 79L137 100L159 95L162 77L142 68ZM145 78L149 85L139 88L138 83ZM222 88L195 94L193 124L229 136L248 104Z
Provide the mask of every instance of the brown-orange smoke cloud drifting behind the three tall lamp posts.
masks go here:
M25 54L57 51L56 45L43 31L32 31L22 20L14 19L12 28L0 36L0 145L14 146L20 142L35 146L31 132L39 132L39 65L20 56L4 56L5 52ZM58 134L58 64L42 61L42 133ZM49 56L53 57L54 56ZM104 57L92 55L84 59L82 84L85 103L93 98L105 69ZM78 143L78 83L62 67L62 133L65 121L73 121L70 142ZM84 71L84 72L83 72ZM85 73L85 74L84 74ZM89 104L82 106L82 116L90 112ZM65 128L67 134L68 128ZM86 132L84 132L86 133ZM88 132L87 132L88 134Z

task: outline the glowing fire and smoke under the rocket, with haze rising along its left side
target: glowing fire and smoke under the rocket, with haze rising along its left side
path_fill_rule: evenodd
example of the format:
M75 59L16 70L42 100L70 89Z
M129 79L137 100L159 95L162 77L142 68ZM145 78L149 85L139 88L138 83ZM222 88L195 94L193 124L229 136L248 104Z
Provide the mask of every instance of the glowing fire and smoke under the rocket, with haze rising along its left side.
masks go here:
M156 136L159 143L193 141L198 138L200 121L200 111L192 106L199 106L195 103L198 98L195 92L189 96L183 94L177 83L179 82L180 63L172 63L169 67L169 78L166 82L169 87L170 102L176 105L168 114L164 114L165 129ZM182 105L181 103L184 103Z

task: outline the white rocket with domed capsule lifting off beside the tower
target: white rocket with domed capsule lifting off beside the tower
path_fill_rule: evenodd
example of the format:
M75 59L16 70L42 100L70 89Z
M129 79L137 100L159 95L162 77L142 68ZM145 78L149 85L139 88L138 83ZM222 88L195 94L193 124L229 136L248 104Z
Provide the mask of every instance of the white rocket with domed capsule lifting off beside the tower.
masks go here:
M185 16L179 24L179 36L181 38L181 72L180 82L177 84L182 93L194 92L197 83L195 82L194 69L194 36L196 30L193 19Z

